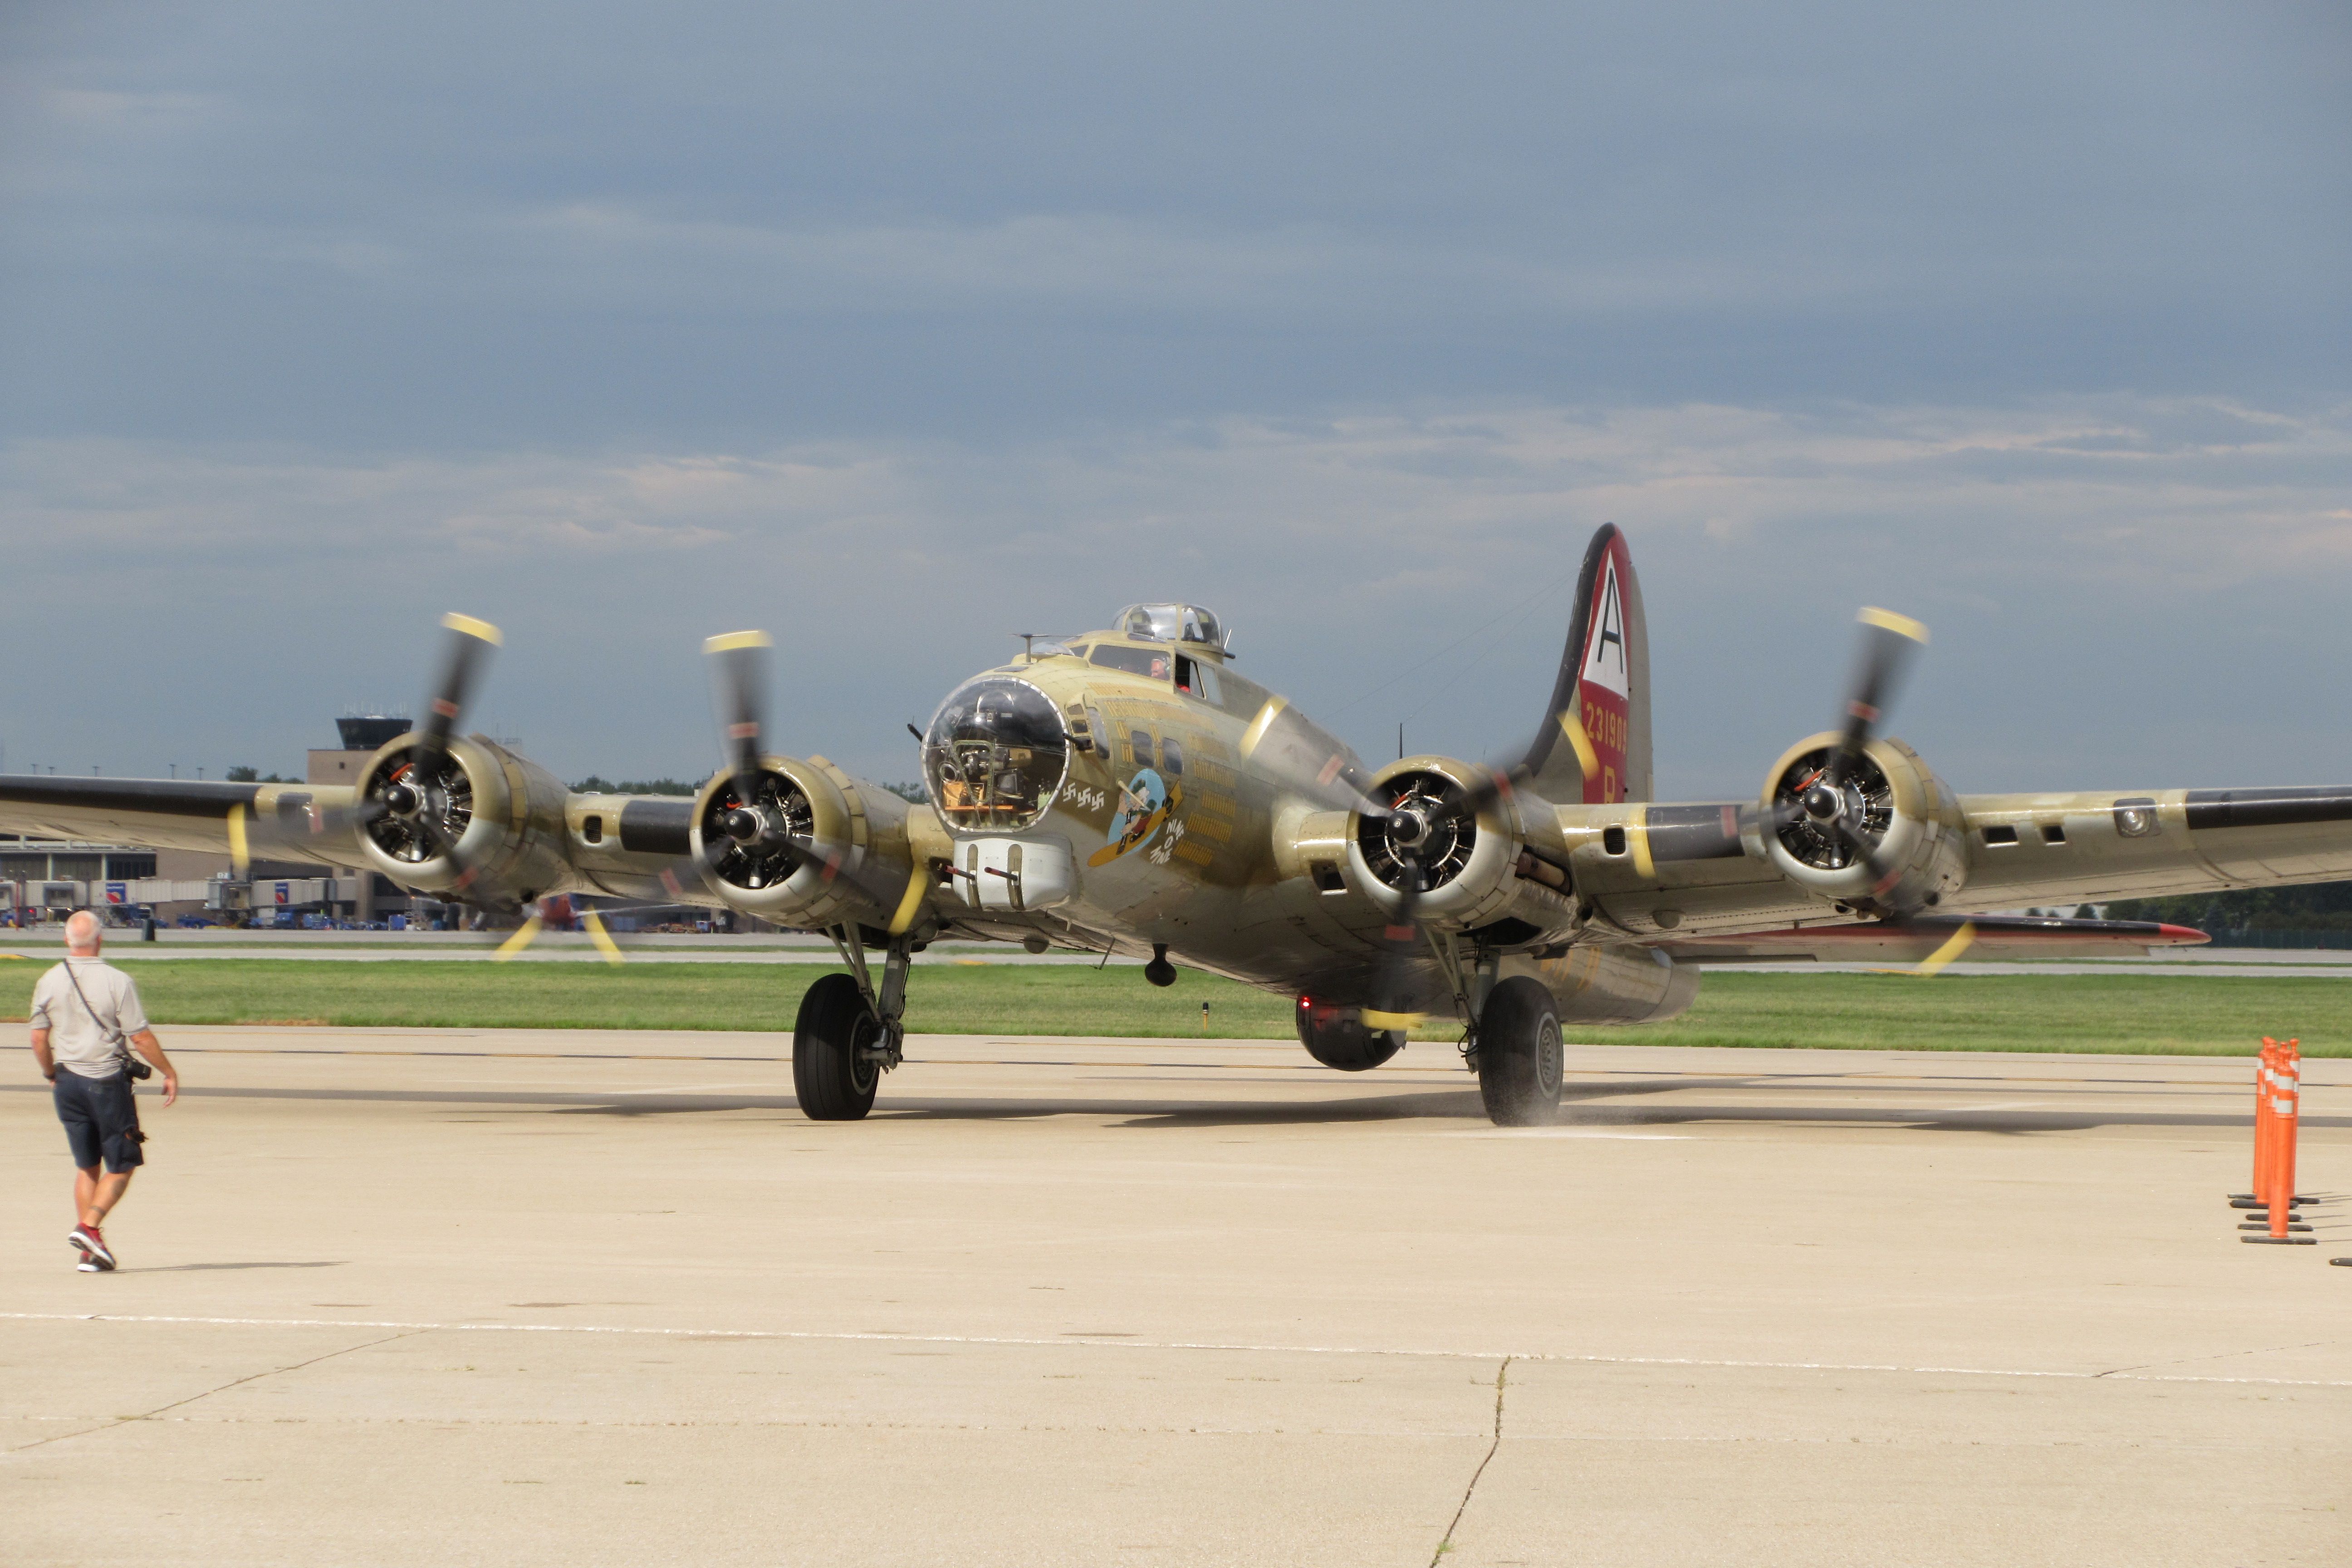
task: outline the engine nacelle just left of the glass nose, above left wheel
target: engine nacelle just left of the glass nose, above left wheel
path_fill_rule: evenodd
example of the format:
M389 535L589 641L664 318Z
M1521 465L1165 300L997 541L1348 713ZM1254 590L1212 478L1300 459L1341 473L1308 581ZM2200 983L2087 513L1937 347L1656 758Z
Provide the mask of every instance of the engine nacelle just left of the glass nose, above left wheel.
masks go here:
M729 818L743 806L774 832L729 837ZM713 776L694 797L687 837L710 891L729 907L788 926L887 922L913 875L906 802L861 790L823 757L762 757L750 802L741 799L734 773Z

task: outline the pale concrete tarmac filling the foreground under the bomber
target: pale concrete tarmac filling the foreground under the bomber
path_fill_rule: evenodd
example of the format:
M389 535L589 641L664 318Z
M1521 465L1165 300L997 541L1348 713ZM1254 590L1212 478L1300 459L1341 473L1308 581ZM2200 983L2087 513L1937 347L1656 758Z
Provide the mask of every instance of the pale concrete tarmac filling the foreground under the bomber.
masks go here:
M2239 1241L2244 1060L167 1046L118 1274L0 1093L14 1566L2352 1561L2352 1201Z

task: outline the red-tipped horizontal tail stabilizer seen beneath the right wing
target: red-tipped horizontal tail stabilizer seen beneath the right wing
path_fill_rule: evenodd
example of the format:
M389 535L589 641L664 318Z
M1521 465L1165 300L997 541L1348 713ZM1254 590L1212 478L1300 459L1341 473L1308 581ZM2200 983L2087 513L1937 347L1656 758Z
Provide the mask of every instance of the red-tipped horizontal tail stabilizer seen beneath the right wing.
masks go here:
M2159 954L2169 947L2201 947L2213 940L2187 926L2145 919L2044 919L2023 914L1922 914L1917 919L1865 922L1856 926L1788 926L1696 936L1656 943L1677 964L1915 964L1969 940L1952 957L1969 959L2114 959Z

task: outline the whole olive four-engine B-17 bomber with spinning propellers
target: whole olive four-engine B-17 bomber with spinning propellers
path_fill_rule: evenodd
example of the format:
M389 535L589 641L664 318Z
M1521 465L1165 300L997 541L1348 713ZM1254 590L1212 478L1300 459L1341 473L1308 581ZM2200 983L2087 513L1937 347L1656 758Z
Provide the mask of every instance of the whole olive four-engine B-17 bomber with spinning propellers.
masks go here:
M1329 1067L1461 1027L1498 1124L1562 1095L1562 1030L1675 1018L1752 959L2126 952L2180 926L1987 910L2352 877L2352 788L1955 795L1882 712L1924 628L1863 611L1837 729L1755 799L1651 799L1642 592L1583 559L1543 722L1508 766L1369 766L1235 668L1218 618L1136 604L1035 639L917 736L927 804L767 750L760 632L713 637L727 764L694 799L593 795L459 717L494 628L452 616L426 719L353 788L0 776L0 830L287 856L522 912L550 896L729 907L828 933L793 1086L856 1119L901 1065L908 966L943 936L1122 952L1296 1001ZM868 957L873 954L873 957Z

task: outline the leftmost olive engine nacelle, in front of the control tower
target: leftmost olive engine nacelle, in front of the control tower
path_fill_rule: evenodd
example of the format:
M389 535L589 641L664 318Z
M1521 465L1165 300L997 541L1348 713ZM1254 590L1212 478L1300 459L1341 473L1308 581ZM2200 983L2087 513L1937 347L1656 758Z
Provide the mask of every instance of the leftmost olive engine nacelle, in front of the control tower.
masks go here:
M360 778L360 853L405 886L461 903L517 905L567 882L564 785L487 736L449 736L426 778L416 736L397 736ZM428 823L440 825L440 839ZM456 856L447 853L456 844Z

